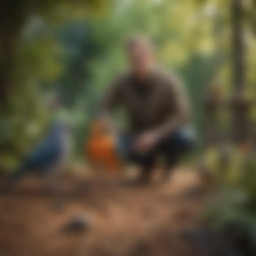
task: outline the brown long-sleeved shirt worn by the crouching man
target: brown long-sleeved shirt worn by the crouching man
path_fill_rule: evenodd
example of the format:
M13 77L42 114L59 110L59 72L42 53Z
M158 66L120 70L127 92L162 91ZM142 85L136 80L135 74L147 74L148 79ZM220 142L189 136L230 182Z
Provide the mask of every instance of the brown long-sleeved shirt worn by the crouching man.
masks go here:
M122 106L131 132L158 128L168 123L184 125L189 105L183 86L173 74L157 70L143 81L124 74L114 81L103 100L103 111Z

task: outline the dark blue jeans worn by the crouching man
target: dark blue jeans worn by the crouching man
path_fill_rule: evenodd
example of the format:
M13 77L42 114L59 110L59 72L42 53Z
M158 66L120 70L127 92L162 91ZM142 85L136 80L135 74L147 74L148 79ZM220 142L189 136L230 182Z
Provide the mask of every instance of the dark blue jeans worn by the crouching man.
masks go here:
M145 171L153 169L156 157L162 155L166 161L166 168L174 167L183 156L192 148L195 135L191 128L181 128L171 133L148 153L142 154L132 150L132 144L136 137L131 134L123 134L119 139L119 153L124 160L141 166Z

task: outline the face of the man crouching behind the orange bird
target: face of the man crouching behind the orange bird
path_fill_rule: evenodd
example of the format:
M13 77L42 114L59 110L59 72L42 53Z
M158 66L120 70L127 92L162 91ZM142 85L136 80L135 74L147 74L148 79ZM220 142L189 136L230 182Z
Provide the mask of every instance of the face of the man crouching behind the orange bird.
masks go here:
M145 42L137 42L128 48L130 69L135 75L144 77L153 65L153 50Z

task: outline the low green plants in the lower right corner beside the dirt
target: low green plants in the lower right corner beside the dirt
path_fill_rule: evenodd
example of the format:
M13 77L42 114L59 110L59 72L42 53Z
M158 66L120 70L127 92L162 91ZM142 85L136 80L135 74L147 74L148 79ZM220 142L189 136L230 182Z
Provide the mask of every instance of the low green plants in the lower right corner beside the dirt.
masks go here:
M204 219L212 224L230 242L256 243L256 159L255 151L247 154L233 149L230 164L218 172L218 186L204 213ZM217 158L214 160L217 161ZM215 165L218 166L218 165ZM224 172L223 172L224 171Z

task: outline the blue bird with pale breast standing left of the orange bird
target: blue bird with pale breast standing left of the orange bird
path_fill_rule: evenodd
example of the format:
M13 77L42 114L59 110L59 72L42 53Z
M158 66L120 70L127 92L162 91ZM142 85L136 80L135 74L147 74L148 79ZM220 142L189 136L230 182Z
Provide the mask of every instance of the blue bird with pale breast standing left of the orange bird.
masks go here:
M9 191L26 174L34 172L43 176L48 185L64 168L71 155L70 132L65 123L55 122L48 135L23 160L20 167L8 178L5 191Z

